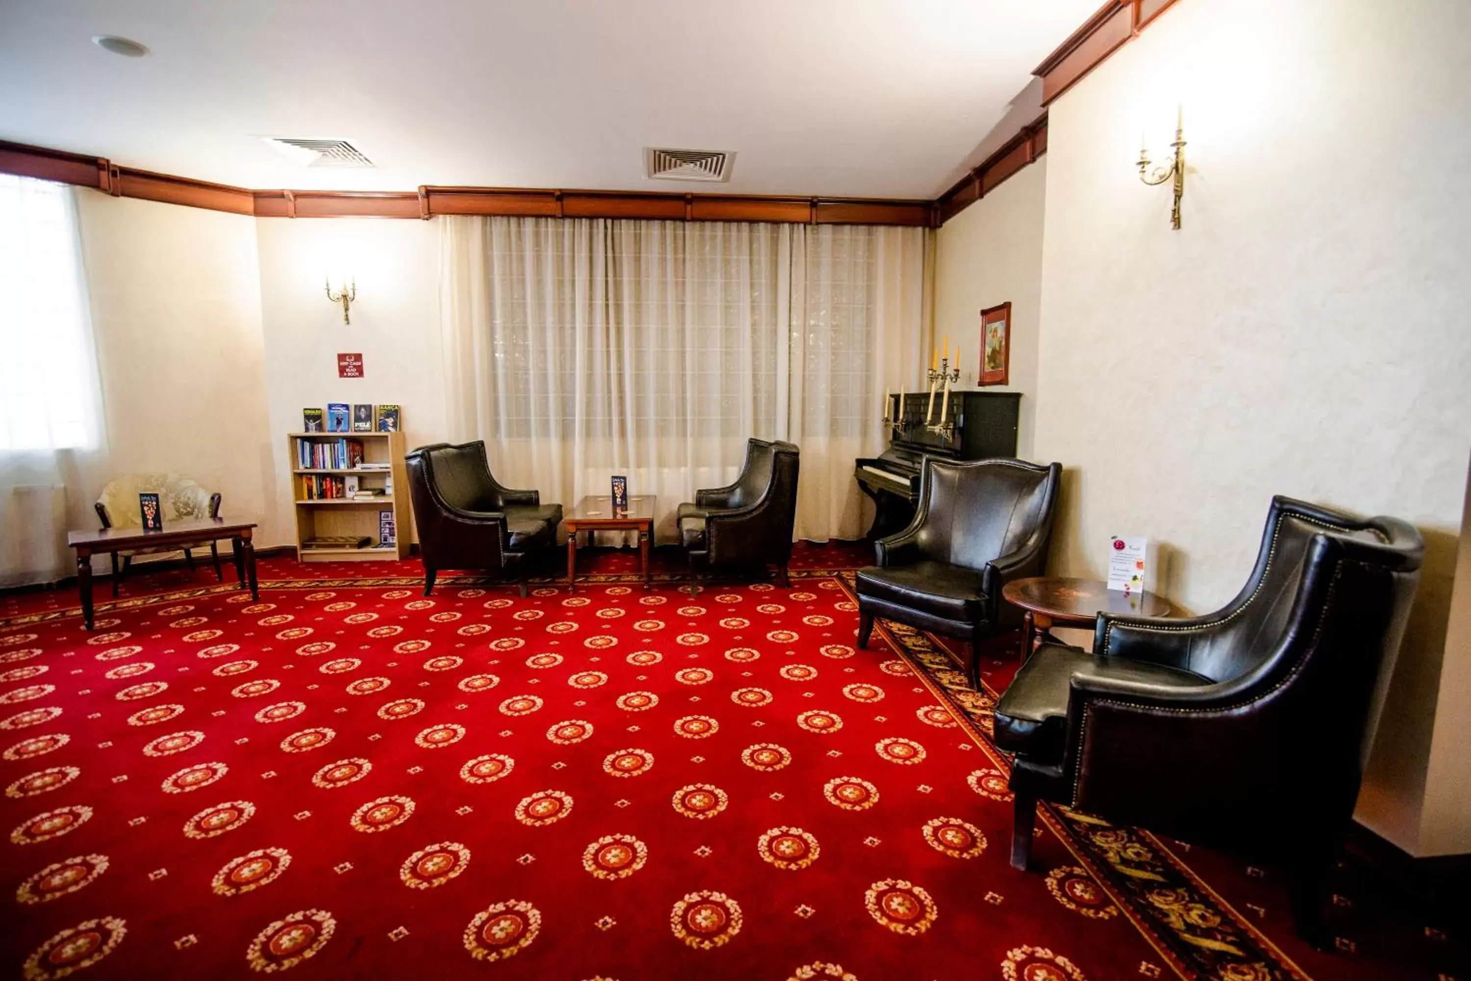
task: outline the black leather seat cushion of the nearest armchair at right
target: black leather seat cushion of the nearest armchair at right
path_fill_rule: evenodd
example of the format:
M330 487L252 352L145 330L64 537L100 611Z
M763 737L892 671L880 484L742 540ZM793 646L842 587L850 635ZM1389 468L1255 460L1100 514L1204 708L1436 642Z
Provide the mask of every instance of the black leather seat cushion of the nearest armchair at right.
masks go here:
M1097 657L1081 647L1044 644L1021 666L996 703L996 746L1009 753L1025 753L1030 762L1039 765L1062 762L1074 677L1177 690L1212 684L1209 678L1178 668Z

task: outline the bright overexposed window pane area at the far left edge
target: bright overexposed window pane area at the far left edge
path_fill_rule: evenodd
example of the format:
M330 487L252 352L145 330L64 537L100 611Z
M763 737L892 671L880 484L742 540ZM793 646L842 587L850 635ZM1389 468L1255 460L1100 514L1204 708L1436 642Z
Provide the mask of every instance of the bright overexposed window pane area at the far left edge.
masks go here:
M0 174L0 452L97 443L72 191Z

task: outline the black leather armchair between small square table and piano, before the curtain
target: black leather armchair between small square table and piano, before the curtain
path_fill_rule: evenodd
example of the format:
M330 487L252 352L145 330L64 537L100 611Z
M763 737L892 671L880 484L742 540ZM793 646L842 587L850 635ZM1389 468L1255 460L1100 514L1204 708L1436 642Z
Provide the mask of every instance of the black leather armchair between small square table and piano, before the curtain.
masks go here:
M680 544L690 560L690 596L699 568L775 565L790 585L791 528L797 519L799 450L791 443L746 441L746 463L728 487L694 491L680 504Z

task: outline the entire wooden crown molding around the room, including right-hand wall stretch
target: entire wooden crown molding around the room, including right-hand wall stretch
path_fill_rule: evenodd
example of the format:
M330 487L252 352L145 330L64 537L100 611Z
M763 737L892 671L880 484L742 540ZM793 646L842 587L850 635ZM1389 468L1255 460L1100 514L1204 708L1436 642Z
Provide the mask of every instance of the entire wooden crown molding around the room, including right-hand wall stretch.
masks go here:
M1043 106L1137 37L1175 1L1108 0L1033 72L1041 76ZM3 141L0 172L93 187L113 197L137 197L256 218L428 219L440 215L540 215L937 228L1046 151L1044 113L1022 126L1000 150L934 201L432 185L416 191L253 191L125 168L107 157Z

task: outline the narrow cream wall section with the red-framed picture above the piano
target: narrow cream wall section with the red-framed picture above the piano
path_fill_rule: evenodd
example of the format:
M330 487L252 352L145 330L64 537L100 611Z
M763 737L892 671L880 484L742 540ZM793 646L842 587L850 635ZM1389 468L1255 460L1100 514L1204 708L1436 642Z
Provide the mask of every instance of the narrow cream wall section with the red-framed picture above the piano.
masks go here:
M1033 459L1037 412L1037 328L1041 304L1041 216L1047 157L1022 168L940 228L934 271L934 335L961 346L958 388L977 388L981 310L1011 302L1011 366L1006 385L1019 391L1016 454Z

